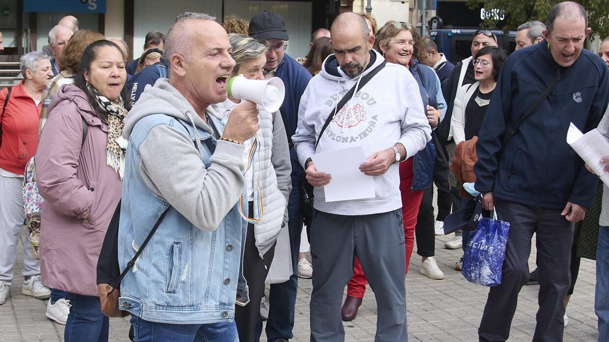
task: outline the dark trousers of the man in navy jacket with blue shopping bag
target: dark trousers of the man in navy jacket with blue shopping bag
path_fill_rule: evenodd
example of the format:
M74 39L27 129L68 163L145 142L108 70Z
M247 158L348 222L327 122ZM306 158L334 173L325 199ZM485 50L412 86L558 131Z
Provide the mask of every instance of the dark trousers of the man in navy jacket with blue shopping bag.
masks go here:
M516 311L518 293L529 279L533 232L537 235L539 309L533 341L562 341L565 296L571 285L573 224L562 209L543 209L496 200L497 218L510 223L501 285L491 287L478 329L480 341L505 341Z

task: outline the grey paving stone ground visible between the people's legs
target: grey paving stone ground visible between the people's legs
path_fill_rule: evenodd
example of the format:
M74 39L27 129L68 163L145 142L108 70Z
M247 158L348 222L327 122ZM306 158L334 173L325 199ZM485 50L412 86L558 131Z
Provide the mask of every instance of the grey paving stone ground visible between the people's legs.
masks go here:
M460 250L444 249L452 236L436 237L436 260L445 279L437 281L421 275L421 260L412 256L406 276L406 299L410 341L477 341L477 325L487 298L488 288L471 284L453 269ZM63 326L44 316L46 301L21 295L23 252L19 251L15 281L10 287L11 298L0 305L0 341L63 341ZM66 260L69 262L69 260ZM535 264L535 245L529 259ZM575 293L569 302L569 325L564 341L597 341L594 315L594 261L582 259ZM309 299L311 280L300 279L296 303L296 322L292 341L309 340ZM518 310L512 322L510 341L530 341L535 329L538 286L523 287L518 298ZM370 288L354 321L345 322L347 341L373 341L376 326L376 302ZM128 341L128 318L110 320L110 340ZM266 341L263 338L262 341ZM86 342L86 341L85 341Z

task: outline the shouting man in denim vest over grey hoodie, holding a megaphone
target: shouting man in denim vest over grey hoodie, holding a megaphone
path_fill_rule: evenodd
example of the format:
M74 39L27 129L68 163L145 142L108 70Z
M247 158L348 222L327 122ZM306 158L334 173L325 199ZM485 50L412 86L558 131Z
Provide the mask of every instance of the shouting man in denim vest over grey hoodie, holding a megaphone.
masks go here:
M227 99L235 65L214 18L183 13L167 33L169 79L148 86L125 119L125 176L119 225L121 270L155 223L157 231L121 284L138 340L238 340L235 298L245 225L243 142L258 131L252 102L223 129L211 105Z

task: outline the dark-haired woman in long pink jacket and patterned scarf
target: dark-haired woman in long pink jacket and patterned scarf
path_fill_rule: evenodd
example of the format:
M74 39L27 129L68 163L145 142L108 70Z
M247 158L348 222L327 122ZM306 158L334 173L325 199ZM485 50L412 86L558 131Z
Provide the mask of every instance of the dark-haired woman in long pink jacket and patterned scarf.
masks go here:
M43 283L64 290L71 304L64 339L107 341L96 265L110 218L121 198L126 56L116 44L86 47L73 85L49 105L36 154L44 198L40 229Z

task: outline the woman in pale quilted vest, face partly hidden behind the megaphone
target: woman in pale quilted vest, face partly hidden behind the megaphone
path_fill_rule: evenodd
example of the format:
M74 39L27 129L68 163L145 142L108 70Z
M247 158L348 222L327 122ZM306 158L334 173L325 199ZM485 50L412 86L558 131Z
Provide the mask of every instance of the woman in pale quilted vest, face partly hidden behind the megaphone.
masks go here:
M267 46L253 38L237 33L228 35L236 65L231 77L243 75L249 80L264 80L262 70L267 63ZM271 47L273 48L273 47ZM216 105L225 123L230 112L241 102L230 92L228 98ZM286 129L279 111L259 110L260 128L256 135L244 142L245 171L242 211L247 233L243 252L242 271L249 290L250 301L235 307L235 321L239 341L255 340L260 302L264 296L264 281L275 255L275 242L280 229L287 223L287 199L292 188L290 155ZM238 303L239 304L239 303Z

